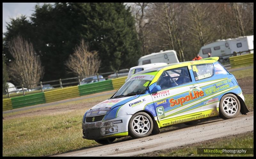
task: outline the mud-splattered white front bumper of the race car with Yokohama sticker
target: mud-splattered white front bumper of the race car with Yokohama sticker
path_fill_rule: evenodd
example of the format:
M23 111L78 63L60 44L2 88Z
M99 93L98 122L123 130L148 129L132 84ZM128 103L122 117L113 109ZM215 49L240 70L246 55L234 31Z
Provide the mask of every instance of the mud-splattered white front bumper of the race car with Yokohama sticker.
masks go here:
M107 121L82 123L83 138L98 140L108 137L122 137L128 135L128 124L132 115L124 115Z

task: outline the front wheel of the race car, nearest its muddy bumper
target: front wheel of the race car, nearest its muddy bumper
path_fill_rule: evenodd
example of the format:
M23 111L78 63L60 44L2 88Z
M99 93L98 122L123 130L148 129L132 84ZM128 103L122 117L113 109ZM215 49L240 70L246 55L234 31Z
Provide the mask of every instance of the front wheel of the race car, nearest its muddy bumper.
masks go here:
M145 112L137 112L129 121L128 132L133 138L146 137L153 130L153 121Z

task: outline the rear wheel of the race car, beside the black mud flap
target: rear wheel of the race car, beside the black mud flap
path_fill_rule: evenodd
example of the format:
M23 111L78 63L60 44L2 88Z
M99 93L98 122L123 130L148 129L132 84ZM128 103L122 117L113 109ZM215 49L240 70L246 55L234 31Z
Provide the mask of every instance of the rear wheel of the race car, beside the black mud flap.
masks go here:
M226 94L220 100L220 118L232 119L240 113L241 105L234 94Z

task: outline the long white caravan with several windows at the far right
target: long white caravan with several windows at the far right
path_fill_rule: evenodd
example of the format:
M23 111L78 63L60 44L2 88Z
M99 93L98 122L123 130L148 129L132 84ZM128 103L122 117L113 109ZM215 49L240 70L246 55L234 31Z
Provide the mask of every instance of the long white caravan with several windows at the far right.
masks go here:
M235 39L216 40L215 42L209 43L201 47L199 55L202 58L207 58L208 53L211 56L221 56L220 61L230 57L228 54L232 54L240 51L247 51L253 49L253 35L238 37ZM243 52L242 54L248 54L249 52ZM253 50L251 51L253 53ZM227 56L225 56L227 55ZM240 54L238 54L240 55Z

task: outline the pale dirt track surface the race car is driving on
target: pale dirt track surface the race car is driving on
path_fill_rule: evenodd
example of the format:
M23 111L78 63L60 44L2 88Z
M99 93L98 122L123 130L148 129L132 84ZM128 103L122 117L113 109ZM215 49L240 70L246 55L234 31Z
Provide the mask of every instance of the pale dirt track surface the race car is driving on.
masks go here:
M181 124L180 124L181 125ZM183 124L184 125L184 124ZM212 140L253 130L253 112L234 119L207 121L140 139L128 139L108 145L86 148L55 156L134 156L152 151Z

